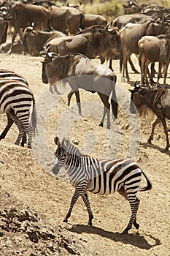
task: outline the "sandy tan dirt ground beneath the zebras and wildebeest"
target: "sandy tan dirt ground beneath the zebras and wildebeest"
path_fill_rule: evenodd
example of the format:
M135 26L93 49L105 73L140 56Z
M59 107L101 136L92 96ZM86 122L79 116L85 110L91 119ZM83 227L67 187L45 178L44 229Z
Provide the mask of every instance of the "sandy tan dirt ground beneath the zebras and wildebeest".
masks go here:
M110 130L98 126L102 105L97 94L81 91L82 116L78 116L74 97L67 107L67 88L61 88L63 94L58 96L42 83L40 61L42 57L0 55L1 69L14 70L28 80L36 98L39 132L32 150L14 145L15 126L0 142L0 255L170 255L170 153L163 150L162 125L156 127L152 145L147 144L152 118L139 119L129 113L128 89L132 87L121 82L118 61L113 67L120 107L117 123L112 121ZM132 82L140 80L131 69L130 77ZM2 131L6 116L0 118ZM130 206L117 193L108 197L89 194L93 227L87 225L82 200L74 207L69 223L62 222L74 189L63 170L58 176L50 172L56 134L77 140L81 151L93 157L134 158L152 182L150 192L139 193L139 230L121 234L128 224Z

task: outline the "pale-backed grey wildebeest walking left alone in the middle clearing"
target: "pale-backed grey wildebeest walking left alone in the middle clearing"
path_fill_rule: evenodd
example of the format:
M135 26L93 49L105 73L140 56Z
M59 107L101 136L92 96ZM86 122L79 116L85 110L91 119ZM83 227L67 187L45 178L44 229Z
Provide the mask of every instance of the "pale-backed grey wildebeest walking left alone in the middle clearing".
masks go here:
M42 61L42 82L50 83L50 87L57 86L57 82L69 83L72 91L68 94L68 105L72 95L75 94L79 113L82 113L80 105L79 89L84 89L92 93L97 92L104 104L104 113L100 126L103 127L104 118L107 115L107 128L110 128L109 117L109 96L112 92L112 113L113 118L117 118L117 102L115 96L116 75L111 69L90 61L81 54L66 54L57 56L56 53L48 53Z

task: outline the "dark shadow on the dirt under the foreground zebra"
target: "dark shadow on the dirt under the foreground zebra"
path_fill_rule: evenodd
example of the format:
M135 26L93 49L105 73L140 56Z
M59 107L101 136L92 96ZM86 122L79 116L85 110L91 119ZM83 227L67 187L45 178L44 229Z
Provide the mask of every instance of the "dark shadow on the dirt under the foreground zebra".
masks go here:
M144 236L152 239L153 243L149 244L144 236L141 236L138 232L130 233L130 234L122 234L122 233L113 233L107 230L102 229L101 227L91 227L88 225L73 225L71 228L66 228L70 232L73 233L88 233L88 234L96 234L98 236L111 239L115 242L123 242L123 244L131 244L133 246L139 247L140 249L151 249L154 246L158 246L161 244L161 241L158 238L154 238L152 235L144 234Z

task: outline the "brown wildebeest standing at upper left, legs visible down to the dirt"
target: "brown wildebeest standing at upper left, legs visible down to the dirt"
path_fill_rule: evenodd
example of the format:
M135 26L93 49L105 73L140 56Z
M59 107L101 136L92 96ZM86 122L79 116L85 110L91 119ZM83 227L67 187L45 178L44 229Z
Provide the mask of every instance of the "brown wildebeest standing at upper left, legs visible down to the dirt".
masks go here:
M20 29L26 29L26 27L31 26L32 23L34 23L36 29L51 29L50 10L47 10L44 7L35 6L33 4L24 4L21 1L17 1L12 5L9 12L10 15L12 15L10 23L15 29L14 34L12 35L12 44L9 53L12 51L12 45L18 33L20 39L23 39Z

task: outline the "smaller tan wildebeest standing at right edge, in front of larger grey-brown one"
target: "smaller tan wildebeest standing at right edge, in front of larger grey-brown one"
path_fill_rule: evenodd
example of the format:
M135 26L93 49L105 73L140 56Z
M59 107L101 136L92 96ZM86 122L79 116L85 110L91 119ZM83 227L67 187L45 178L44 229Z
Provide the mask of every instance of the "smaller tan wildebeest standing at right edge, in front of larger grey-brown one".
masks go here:
M158 80L161 78L161 70L164 67L163 83L166 83L166 75L170 62L170 36L160 35L158 37L145 36L138 42L139 59L141 66L141 80L147 80L147 67L150 62L159 62ZM151 70L150 81L152 81L154 72ZM148 82L148 81L147 81ZM153 81L152 81L153 82Z

